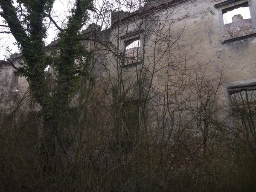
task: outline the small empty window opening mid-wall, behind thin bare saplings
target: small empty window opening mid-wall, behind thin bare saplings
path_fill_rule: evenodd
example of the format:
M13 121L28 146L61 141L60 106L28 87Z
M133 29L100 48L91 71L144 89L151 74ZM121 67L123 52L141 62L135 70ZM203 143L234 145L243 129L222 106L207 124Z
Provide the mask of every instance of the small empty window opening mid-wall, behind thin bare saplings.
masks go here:
M125 64L140 61L140 39L127 41L125 44Z

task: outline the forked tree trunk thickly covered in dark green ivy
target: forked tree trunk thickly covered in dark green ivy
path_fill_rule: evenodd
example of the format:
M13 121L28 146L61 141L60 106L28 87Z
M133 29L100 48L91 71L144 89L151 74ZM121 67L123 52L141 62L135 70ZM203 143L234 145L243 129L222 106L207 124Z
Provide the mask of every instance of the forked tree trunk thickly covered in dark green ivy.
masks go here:
M69 107L70 83L74 73L77 73L75 61L86 55L79 40L81 40L80 30L87 19L91 1L76 0L67 28L61 29L56 26L60 30L58 43L60 52L54 54L53 59L44 51L44 38L47 35L44 21L51 12L54 0L17 0L17 3L21 5L20 9L24 7L26 12L13 6L12 0L0 0L0 8L3 10L0 15L8 24L22 53L24 64L19 70L27 78L32 96L41 106L43 114L41 154L48 169L51 167L50 160L55 156L58 122ZM20 20L18 13L26 22ZM58 74L55 79L58 87L54 90L55 94L47 91L45 82L44 70L49 60L54 61L53 66Z

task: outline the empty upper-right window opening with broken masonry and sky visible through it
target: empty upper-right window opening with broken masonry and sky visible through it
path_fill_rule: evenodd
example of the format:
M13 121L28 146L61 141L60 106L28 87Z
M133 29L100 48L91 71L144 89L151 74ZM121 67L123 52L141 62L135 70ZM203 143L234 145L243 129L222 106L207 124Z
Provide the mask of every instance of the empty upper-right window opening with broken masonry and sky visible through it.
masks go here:
M222 15L226 39L253 34L248 2L223 9Z

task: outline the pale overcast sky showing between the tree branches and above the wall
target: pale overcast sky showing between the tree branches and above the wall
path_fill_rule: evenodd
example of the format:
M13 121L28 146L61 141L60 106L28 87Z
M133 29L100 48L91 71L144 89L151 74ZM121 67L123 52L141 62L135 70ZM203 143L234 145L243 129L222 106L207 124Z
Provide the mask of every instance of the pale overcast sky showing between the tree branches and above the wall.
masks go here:
M122 4L119 4L119 9L123 9L124 11L128 11L127 4L130 3L131 0L122 0ZM140 0L133 0L134 2L138 4ZM71 7L74 4L75 0L55 0L55 3L53 4L52 8L52 17L55 20L55 22L58 24L58 26L62 26L65 21L67 21L67 16L70 15ZM107 2L109 4L112 4L112 6L103 7L104 5L107 5ZM88 26L89 23L97 23L99 25L102 24L103 15L110 15L110 10L118 9L118 3L116 0L94 0L94 4L96 6L96 13L90 13L90 18L88 19L88 22L84 26L83 29L86 29L86 26ZM17 6L17 3L15 4ZM134 8L136 9L136 8ZM134 11L134 10L131 10ZM100 15L100 16L99 16ZM99 18L99 17L100 18ZM0 17L1 18L1 17ZM106 17L105 17L106 20ZM63 22L64 21L64 22ZM105 22L106 23L106 22ZM3 22L3 18L0 19L0 24L5 24ZM107 27L103 25L103 28ZM1 31L6 31L6 29L1 29ZM48 24L48 30L47 30L47 39L45 39L45 44L50 44L58 34L58 29L53 24ZM17 45L15 43L15 38L12 37L11 34L4 34L0 33L0 60L5 60L6 58L9 58L9 55L15 52L19 52ZM9 47L9 52L6 52L6 47Z

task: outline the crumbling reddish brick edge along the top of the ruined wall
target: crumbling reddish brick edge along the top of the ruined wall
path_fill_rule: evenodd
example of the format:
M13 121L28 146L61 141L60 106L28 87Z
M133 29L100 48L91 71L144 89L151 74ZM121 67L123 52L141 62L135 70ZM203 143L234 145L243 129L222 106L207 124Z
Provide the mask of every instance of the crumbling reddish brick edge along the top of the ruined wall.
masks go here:
M158 0L158 1L160 2L161 0ZM155 3L155 5L157 5L157 6L151 6L151 7L149 7L148 9L147 9L147 5L148 5L148 4L145 4L145 6L144 6L142 9L140 8L141 11L140 11L140 9L139 9L139 10L137 10L137 11L135 11L135 12L132 12L132 13L124 12L125 15L128 14L128 16L127 16L127 17L124 17L124 18L121 18L121 19L119 20L119 23L125 23L126 20L131 20L131 19L134 18L134 17L140 17L140 16L142 16L143 14L144 14L144 15L150 15L150 14L155 13L155 12L158 12L158 11L160 11L160 10L169 9L169 8L176 7L176 6L179 6L179 5L184 4L184 3L193 2L193 1L195 1L195 0L167 0L167 1L168 1L168 2L166 2L166 3L161 3L161 4ZM148 3L151 3L151 1L148 1ZM150 5L149 5L149 6L150 6ZM123 12L123 10L120 10L119 12ZM119 13L119 12L114 12L114 13ZM113 21L113 15L114 15L114 13L113 13L113 12L111 13L111 21ZM115 18L116 18L116 17L115 17ZM118 25L118 20L115 21L115 22L113 22L113 23L111 23L111 26L112 26L112 27L113 27L113 26L116 26L116 25Z

